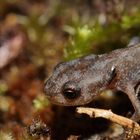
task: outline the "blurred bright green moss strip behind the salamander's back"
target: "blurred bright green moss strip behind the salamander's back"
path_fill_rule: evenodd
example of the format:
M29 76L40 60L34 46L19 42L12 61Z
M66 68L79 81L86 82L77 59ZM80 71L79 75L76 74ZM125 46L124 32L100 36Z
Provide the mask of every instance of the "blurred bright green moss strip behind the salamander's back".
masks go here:
M103 20L107 20L107 15L102 16ZM86 25L77 23L76 26L65 26L64 30L70 34L70 38L67 47L64 49L64 59L71 60L83 55L88 55L92 52L93 48L98 48L99 44L102 44L104 51L107 51L106 47L111 49L123 47L129 42L131 37L140 36L140 8L137 7L132 15L128 15L127 12L121 15L121 19L116 20L115 17L111 17L111 21L105 21L103 23L99 19L95 18L94 23L91 21ZM107 23L108 22L108 23ZM137 29L134 32L135 28ZM134 30L133 30L134 29ZM118 44L114 47L113 44L109 46L113 40L113 44ZM101 51L102 52L102 51ZM101 53L100 52L100 53ZM95 51L95 53L97 53ZM103 53L103 52L102 52Z

